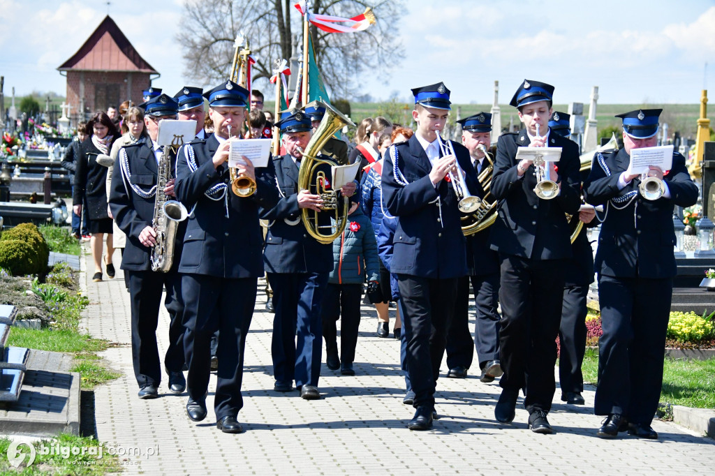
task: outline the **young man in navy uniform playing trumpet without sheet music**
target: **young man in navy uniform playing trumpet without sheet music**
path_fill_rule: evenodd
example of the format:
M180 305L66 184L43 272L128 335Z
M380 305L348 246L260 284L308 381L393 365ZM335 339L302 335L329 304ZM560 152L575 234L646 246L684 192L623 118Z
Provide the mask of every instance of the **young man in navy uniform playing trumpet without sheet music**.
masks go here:
M429 430L457 280L467 273L458 197L455 184L445 177L450 171L458 175L456 167L460 167L465 179L461 185L478 197L483 190L468 150L453 142L443 144L439 137L451 109L450 91L441 82L412 91L417 131L408 142L388 149L383 201L390 214L398 217L390 272L398 276L403 299L408 372L417 409L408 428Z

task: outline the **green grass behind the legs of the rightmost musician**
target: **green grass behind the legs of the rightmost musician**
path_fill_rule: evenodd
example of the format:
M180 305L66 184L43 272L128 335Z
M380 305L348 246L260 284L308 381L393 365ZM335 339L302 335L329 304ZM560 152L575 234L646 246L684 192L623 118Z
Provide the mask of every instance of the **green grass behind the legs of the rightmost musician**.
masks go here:
M581 366L583 382L598 381L598 354L586 349ZM661 402L693 408L715 408L715 359L689 360L666 357Z

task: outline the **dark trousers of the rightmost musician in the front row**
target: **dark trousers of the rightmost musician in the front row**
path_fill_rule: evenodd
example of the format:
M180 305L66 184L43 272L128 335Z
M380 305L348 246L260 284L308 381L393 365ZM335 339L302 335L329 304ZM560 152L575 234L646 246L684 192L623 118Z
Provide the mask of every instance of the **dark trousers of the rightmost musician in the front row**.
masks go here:
M673 280L598 277L603 336L598 342L596 415L620 413L650 425L663 386Z

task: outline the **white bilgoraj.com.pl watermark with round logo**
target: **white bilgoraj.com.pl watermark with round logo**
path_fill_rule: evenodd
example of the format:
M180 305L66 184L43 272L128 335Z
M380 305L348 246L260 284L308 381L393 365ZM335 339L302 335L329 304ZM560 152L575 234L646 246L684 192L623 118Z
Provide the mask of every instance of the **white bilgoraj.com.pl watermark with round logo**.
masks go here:
M137 457L152 457L159 454L159 445L149 447L122 447L122 446L105 446L102 443L97 445L63 445L59 442L39 442L33 445L29 442L14 440L7 448L7 460L13 467L19 467L23 463L26 466L31 466L37 455L56 456L63 460L73 458L73 461L68 461L69 464L77 465L94 465L102 461L104 455L119 458L137 458ZM89 457L89 459L87 458ZM74 461L74 458L82 458ZM51 465L51 460L44 462ZM111 465L132 465L136 462L130 460L107 462Z

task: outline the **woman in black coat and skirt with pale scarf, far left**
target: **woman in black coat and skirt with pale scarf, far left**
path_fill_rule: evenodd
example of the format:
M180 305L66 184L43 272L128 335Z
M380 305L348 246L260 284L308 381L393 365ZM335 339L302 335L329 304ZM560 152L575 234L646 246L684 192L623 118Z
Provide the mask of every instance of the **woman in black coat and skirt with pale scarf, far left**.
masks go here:
M90 246L94 257L94 281L102 281L102 247L104 234L107 234L107 254L104 264L107 265L107 276L114 277L112 264L112 219L107 214L107 167L97 164L97 155L109 155L112 143L119 137L119 132L112 119L104 112L94 114L87 122L87 136L80 145L80 157L74 173L74 212L82 214L82 199L87 200L87 217L89 218L89 234L92 235Z

